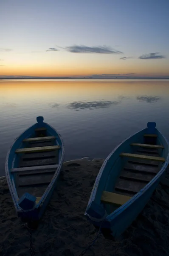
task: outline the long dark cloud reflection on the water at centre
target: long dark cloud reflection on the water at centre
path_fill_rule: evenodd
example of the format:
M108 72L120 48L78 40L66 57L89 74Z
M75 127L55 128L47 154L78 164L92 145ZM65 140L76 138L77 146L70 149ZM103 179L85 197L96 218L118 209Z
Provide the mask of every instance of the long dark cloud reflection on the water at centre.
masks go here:
M93 102L72 102L67 104L67 108L74 109L76 111L82 109L96 109L96 108L108 108L110 105L118 105L121 100L115 101L93 101Z

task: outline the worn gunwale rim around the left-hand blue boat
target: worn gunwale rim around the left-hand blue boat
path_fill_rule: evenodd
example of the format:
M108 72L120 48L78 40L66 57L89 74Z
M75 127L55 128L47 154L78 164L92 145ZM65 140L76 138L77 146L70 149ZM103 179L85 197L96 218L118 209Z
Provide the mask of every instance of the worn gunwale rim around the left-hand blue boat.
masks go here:
M26 211L32 211L34 209L37 209L39 208L39 205L42 203L42 201L45 200L45 198L48 196L49 192L50 192L50 189L51 189L51 186L54 184L56 178L59 176L59 173L61 171L61 167L62 167L62 164L63 164L63 160L64 160L64 156L65 156L65 148L64 148L64 143L63 143L63 140L62 140L62 137L61 135L59 134L59 132L53 128L51 125L49 125L48 123L46 122L43 122L45 125L47 125L47 130L48 130L48 127L50 127L52 130L54 130L56 132L56 134L58 135L60 141L61 141L61 148L62 148L62 156L60 157L59 159L59 164L58 164L58 168L57 168L57 171L55 172L54 176L52 177L51 179L51 182L48 184L47 188L45 189L41 199L39 200L38 204L35 205L34 208L32 208L31 210L26 210ZM17 203L17 198L18 198L18 195L17 195L17 190L16 190L16 187L14 186L13 184L13 180L11 179L10 177L10 170L8 168L8 160L9 160L9 155L11 153L11 149L12 147L14 146L14 143L22 136L23 133L25 133L26 131L28 131L29 129L31 130L32 128L34 128L34 126L36 126L37 123L34 123L34 125L31 125L30 127L28 127L27 129L25 129L16 139L14 139L13 143L11 144L11 147L9 148L7 154L6 154L6 161L5 161L5 173L6 173L6 180L7 180L7 183L8 183L8 188L9 188L9 191L11 193L11 197L12 197L12 201L14 202L14 207L16 209L16 211L22 211L22 212L26 212L25 210L23 210ZM57 141L57 138L56 138L56 141ZM61 148L59 149L59 153L61 151ZM60 154L59 154L60 156ZM12 166L13 166L13 163L14 163L14 158L16 157L16 153L14 153L14 157L13 157L13 160L12 160Z

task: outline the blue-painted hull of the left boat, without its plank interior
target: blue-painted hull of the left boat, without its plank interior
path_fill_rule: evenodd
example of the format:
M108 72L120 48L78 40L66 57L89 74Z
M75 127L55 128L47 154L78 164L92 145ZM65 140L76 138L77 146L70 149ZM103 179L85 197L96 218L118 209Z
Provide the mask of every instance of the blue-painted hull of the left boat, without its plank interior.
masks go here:
M56 169L56 172L54 173L54 176L51 180L51 183L46 188L44 194L42 195L40 201L35 204L35 206L32 209L29 210L23 210L19 203L20 201L17 195L17 189L15 186L15 177L14 174L11 172L12 168L17 168L19 165L19 157L15 153L17 148L24 148L25 145L23 143L24 139L35 137L35 129L45 127L47 129L47 135L48 136L55 136L56 137L56 145L60 146L59 149L59 159L58 159L58 168ZM64 144L61 135L50 125L43 122L43 117L39 116L37 117L37 123L29 127L27 130L25 130L22 134L20 134L17 139L14 140L14 143L11 145L11 148L9 149L7 156L6 156L6 163L5 163L5 172L6 172L6 179L8 182L9 191L11 193L12 200L14 202L14 207L16 209L17 215L21 218L26 219L27 221L38 221L43 212L45 211L46 206L48 205L48 202L52 196L52 193L56 187L57 180L59 178L59 174L62 170L62 164L64 160L65 155L65 149Z

